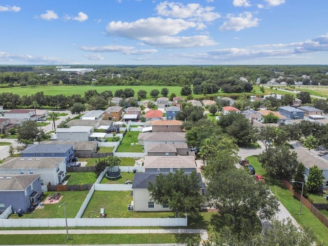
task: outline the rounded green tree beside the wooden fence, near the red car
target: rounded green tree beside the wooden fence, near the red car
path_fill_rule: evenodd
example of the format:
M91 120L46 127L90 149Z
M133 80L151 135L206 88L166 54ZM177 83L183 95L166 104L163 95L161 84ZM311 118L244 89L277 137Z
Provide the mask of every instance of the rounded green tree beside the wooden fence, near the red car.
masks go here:
M270 146L259 155L258 160L262 168L277 179L289 180L298 165L297 154L290 152L286 145Z

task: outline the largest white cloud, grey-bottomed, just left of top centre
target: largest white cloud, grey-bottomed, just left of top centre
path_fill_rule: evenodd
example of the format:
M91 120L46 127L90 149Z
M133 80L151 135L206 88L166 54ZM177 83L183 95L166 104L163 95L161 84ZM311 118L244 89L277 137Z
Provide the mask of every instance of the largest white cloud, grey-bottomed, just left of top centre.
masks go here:
M198 28L194 22L187 22L183 19L163 19L161 17L151 17L138 19L135 22L110 22L106 31L110 35L117 35L132 39L143 39L166 35L176 35L189 28ZM201 27L201 26L200 26Z

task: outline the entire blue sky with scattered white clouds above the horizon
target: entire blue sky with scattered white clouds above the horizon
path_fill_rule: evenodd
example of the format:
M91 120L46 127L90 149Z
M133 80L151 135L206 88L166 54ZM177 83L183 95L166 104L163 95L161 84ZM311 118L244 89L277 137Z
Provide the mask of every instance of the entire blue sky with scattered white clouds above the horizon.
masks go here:
M1 0L0 65L328 64L327 0Z

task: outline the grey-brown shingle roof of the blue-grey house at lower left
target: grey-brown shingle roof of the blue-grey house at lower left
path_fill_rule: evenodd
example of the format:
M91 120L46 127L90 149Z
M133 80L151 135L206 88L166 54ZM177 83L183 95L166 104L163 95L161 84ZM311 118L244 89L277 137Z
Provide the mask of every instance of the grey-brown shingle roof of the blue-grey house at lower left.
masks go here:
M39 174L0 174L0 191L24 191Z

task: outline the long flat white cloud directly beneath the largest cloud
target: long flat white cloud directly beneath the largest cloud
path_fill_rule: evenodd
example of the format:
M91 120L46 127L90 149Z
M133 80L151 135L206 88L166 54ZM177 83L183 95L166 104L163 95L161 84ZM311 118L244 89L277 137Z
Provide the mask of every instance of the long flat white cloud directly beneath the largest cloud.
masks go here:
M142 39L145 44L161 48L190 48L217 45L209 36L198 35L191 37L161 36Z

